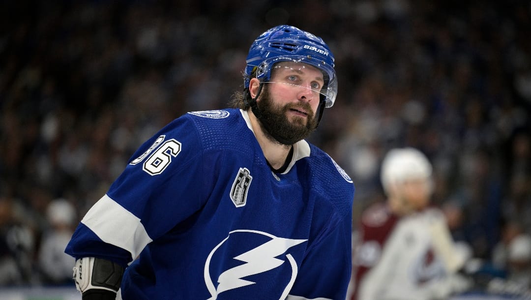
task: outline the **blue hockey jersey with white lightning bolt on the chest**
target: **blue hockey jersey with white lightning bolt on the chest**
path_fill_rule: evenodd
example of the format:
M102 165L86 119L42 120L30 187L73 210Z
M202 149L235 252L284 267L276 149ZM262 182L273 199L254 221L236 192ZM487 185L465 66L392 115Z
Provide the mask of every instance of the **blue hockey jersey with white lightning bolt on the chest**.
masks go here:
M127 300L342 300L353 196L314 145L275 174L245 111L191 112L139 148L66 253L127 267Z

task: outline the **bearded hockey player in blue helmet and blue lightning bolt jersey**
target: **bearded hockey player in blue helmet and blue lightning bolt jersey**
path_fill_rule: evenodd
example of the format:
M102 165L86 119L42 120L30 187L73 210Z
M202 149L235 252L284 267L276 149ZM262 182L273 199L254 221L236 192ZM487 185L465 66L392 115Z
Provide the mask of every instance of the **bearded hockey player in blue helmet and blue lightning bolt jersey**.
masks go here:
M354 186L304 140L336 93L321 38L262 33L234 108L162 128L81 220L83 299L344 299Z

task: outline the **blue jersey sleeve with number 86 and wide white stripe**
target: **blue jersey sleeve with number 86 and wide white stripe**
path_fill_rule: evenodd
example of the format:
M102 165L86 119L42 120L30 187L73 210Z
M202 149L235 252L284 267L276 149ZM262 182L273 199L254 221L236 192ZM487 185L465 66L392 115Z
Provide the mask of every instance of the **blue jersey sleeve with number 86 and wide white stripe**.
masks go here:
M204 160L194 121L184 115L168 124L136 151L83 217L65 252L131 262L202 207L209 186Z

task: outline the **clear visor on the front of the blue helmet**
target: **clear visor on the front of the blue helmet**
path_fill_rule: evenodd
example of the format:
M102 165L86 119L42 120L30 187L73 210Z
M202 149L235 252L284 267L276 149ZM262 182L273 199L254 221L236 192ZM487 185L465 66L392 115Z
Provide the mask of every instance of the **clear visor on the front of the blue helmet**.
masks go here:
M321 74L316 75L316 70ZM335 75L332 66L317 58L307 56L277 56L266 59L256 70L256 78L263 83L286 84L309 89L313 93L322 95L326 101L325 107L331 107L336 101Z

